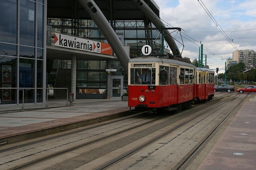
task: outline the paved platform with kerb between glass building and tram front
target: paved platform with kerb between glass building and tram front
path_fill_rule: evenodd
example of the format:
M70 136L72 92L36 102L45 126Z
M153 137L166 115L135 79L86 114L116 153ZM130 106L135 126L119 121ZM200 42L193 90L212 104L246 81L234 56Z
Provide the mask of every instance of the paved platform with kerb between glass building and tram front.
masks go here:
M67 105L68 104L68 105ZM49 99L46 104L0 106L0 146L121 117L130 110L121 99Z

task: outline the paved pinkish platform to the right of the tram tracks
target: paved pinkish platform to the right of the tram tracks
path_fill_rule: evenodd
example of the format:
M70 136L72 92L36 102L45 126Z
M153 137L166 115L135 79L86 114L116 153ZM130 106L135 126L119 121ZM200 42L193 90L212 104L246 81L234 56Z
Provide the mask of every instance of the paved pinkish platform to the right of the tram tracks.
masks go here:
M210 152L203 162L197 162L197 170L255 170L255 129L256 95L252 94L227 127L224 126L213 147L205 148Z

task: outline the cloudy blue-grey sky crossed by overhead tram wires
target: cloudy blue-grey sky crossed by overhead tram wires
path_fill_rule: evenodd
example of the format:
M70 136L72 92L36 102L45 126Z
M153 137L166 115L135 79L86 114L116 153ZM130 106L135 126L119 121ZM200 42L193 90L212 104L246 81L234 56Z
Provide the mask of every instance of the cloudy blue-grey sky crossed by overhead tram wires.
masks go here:
M200 42L207 65L218 67L219 73L224 73L225 61L236 49L256 51L256 0L154 1L166 26L182 28L182 57L190 61L198 59ZM178 34L172 36L180 40ZM176 43L182 51L182 45Z

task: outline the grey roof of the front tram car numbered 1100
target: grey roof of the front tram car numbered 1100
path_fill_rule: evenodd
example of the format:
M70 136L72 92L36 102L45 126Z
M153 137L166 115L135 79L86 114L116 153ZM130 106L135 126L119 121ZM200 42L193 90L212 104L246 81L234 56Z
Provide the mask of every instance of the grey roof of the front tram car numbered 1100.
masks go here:
M136 57L130 59L129 63L145 63L145 62L157 62L157 63L168 63L168 64L175 64L175 65L183 65L187 67L195 67L191 62L185 62L178 59L164 59L160 57Z

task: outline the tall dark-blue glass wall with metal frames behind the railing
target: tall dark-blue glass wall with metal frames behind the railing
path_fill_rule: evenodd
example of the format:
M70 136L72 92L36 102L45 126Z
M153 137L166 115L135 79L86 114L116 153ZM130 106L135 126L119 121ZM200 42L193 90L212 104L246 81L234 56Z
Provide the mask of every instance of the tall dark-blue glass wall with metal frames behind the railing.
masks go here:
M0 104L22 103L23 94L25 103L42 102L44 0L0 4Z

